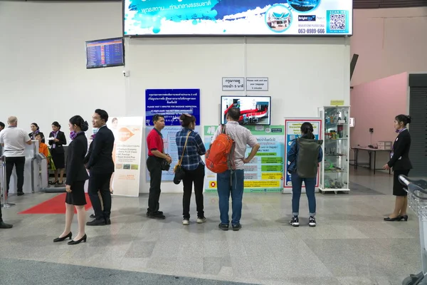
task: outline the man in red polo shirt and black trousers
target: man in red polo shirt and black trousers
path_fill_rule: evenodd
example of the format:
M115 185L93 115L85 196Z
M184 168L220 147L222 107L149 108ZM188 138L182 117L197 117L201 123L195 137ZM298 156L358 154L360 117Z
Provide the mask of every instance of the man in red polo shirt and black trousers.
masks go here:
M164 116L154 115L154 129L147 135L147 169L149 171L149 197L147 217L150 219L165 219L159 211L160 185L162 183L162 160L172 163L172 158L164 154L163 136L160 133L164 128Z

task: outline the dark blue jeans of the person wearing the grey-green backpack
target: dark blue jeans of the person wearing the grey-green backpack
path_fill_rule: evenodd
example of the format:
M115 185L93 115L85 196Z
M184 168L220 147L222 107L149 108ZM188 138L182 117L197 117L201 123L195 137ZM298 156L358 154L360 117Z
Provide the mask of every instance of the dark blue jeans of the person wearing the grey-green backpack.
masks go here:
M292 173L290 180L292 181L292 214L297 216L300 212L300 197L302 182L305 184L305 194L308 199L308 209L310 216L315 217L316 214L316 177L315 178L302 178L296 172Z

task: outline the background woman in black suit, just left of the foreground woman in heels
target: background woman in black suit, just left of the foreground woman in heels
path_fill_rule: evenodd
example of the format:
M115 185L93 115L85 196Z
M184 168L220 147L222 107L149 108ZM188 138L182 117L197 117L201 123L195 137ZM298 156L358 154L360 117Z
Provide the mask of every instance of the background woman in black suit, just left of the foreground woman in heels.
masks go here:
M51 155L53 164L55 165L55 181L51 184L63 184L64 177L64 168L65 168L65 156L64 156L64 147L63 145L67 144L65 139L65 134L60 131L60 125L58 122L52 123L52 132L49 134L49 145L51 145ZM58 180L58 170L60 171L60 176Z

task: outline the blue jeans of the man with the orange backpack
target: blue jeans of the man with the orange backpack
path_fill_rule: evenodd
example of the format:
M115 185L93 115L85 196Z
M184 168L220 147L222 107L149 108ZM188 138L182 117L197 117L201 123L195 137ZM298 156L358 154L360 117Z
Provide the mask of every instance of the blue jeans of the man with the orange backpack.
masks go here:
M231 224L240 224L240 219L242 217L244 171L234 170L233 174L231 174L231 170L227 170L226 172L218 173L217 180L221 224L230 223L228 217L228 201L230 199L230 194L231 208L233 209Z

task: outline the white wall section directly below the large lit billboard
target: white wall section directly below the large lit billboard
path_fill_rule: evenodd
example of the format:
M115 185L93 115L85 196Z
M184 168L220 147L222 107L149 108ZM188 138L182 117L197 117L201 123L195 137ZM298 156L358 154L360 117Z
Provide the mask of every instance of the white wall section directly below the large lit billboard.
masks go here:
M126 48L127 115L143 114L145 89L200 88L201 125L216 125L221 95L233 94L222 91L224 76L268 77L268 92L248 95L272 96L274 125L285 117L315 117L330 100L349 105L346 38L130 38ZM162 191L181 187L171 182Z

